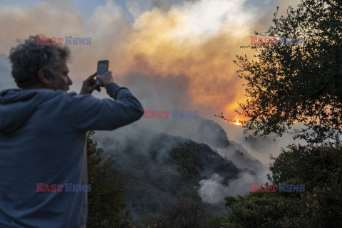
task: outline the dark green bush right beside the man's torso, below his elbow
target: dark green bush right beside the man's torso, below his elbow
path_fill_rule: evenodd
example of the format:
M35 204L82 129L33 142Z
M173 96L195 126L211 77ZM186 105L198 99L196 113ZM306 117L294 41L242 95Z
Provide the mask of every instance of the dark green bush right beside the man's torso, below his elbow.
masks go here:
M88 155L88 183L91 191L88 192L88 221L87 227L134 228L127 219L127 210L123 203L125 191L120 185L120 178L113 175L113 160L108 158L101 163L103 150L97 147L87 135Z

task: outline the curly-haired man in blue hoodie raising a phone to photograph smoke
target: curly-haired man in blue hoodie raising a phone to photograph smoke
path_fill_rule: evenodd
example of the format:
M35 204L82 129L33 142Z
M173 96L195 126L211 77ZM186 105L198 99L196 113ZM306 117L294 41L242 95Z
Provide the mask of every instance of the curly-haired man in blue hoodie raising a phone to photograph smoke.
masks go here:
M144 113L110 71L96 78L113 99L90 95L100 90L96 73L80 94L66 93L69 57L68 47L40 45L37 36L11 48L19 89L0 92L0 227L86 227L86 132L114 130Z

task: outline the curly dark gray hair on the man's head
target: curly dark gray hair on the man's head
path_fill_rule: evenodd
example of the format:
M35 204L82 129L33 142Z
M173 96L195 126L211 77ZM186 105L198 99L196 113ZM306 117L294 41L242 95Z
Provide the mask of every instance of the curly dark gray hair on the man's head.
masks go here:
M70 48L57 44L40 45L37 37L30 36L15 48L9 51L9 59L12 65L12 76L19 88L34 86L39 82L38 71L46 68L52 75L55 72L55 64L58 58L68 61ZM44 37L44 36L43 36ZM46 38L52 43L50 38Z

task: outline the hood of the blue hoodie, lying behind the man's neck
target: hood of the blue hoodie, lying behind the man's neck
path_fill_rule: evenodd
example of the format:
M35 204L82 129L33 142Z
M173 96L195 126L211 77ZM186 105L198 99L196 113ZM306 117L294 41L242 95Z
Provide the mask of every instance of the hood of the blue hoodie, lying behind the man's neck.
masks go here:
M0 92L0 133L9 134L21 128L53 90L9 89Z

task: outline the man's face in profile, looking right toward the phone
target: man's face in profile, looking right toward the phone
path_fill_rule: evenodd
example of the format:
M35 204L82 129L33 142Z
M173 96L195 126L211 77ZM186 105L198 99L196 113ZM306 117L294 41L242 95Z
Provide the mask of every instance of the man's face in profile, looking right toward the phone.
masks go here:
M73 82L68 76L69 68L66 65L66 60L58 58L58 61L56 61L54 69L55 78L51 78L51 89L63 91L69 90L69 85L72 85Z

